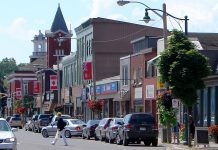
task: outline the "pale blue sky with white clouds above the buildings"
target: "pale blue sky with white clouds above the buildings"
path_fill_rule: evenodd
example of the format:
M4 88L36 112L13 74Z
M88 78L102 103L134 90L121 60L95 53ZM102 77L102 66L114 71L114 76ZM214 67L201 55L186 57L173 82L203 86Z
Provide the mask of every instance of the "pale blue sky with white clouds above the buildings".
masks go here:
M135 0L134 0L135 1ZM178 18L188 16L188 32L218 33L218 0L138 0L150 8L161 9L166 4L169 14ZM31 40L39 30L50 30L58 4L68 29L74 31L89 18L103 17L153 27L163 27L162 19L149 12L153 21L145 24L145 6L130 3L117 5L117 0L5 0L0 5L0 61L14 58L19 63L29 63L33 52ZM162 14L161 12L159 12ZM184 22L168 17L167 28L184 31ZM73 38L76 38L75 32ZM71 51L76 51L72 39Z

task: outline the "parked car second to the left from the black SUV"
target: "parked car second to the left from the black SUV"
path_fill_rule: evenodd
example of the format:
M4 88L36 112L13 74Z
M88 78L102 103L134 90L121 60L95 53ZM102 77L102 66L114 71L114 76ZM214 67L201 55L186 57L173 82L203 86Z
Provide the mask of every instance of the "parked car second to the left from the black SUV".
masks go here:
M105 132L112 118L103 118L95 129L95 140L105 140Z

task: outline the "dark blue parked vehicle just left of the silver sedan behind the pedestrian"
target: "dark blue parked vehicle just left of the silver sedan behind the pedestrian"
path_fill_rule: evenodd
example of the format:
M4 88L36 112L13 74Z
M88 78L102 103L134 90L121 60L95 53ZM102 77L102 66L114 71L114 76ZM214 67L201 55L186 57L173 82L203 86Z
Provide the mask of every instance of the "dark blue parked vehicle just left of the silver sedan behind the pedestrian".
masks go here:
M38 115L38 118L34 121L34 132L40 133L43 127L48 126L49 118L49 114Z

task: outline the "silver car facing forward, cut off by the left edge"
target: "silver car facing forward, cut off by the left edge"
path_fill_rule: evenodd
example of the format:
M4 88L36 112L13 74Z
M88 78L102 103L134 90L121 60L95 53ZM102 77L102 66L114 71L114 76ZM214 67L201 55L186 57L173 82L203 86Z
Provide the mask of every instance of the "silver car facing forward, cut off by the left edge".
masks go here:
M11 129L7 121L0 118L0 149L17 150L17 139L13 133L17 130Z

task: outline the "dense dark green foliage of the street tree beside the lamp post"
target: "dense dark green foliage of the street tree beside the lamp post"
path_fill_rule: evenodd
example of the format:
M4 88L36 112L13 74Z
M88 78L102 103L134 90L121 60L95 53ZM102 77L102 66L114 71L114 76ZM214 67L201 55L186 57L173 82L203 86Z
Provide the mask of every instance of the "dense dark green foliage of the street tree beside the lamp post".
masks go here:
M173 95L187 106L195 103L196 90L204 87L202 78L211 72L207 58L198 53L191 41L177 30L173 30L168 47L160 56L158 68Z

